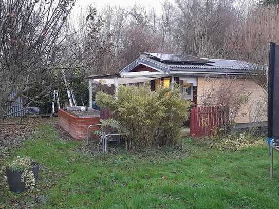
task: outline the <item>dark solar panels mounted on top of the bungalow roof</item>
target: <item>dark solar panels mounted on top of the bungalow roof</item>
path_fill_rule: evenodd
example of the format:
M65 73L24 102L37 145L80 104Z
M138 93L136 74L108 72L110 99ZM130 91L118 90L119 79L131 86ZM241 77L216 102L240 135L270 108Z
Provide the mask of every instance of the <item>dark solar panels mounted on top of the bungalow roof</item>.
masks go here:
M189 56L189 55L161 54L161 53L149 53L149 52L145 52L145 54L158 58L160 59L160 61L166 61L166 62L213 63L213 61L196 58L195 56Z

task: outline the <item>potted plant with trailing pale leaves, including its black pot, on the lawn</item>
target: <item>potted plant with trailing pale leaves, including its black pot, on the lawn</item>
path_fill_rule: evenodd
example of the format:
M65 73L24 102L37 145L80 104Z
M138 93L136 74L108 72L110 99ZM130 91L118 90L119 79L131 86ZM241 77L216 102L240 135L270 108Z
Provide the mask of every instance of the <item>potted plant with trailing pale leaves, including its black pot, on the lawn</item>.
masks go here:
M32 191L38 181L39 165L32 162L29 157L16 157L6 169L6 175L10 190L20 193L29 189Z

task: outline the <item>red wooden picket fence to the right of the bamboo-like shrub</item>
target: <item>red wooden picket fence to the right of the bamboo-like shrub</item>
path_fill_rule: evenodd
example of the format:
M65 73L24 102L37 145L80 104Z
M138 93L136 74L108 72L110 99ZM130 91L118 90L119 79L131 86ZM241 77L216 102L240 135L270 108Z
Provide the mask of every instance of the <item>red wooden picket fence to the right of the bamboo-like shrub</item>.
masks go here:
M208 136L229 122L228 107L193 107L190 112L190 135Z

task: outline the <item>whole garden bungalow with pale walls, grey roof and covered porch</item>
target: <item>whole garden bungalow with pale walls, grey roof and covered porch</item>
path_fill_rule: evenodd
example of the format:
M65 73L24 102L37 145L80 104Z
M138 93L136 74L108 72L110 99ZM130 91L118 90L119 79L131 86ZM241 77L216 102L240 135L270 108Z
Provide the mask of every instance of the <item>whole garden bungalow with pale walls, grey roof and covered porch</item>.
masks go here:
M202 105L200 96L210 88L207 77L222 79L225 76L237 78L235 85L244 85L245 91L250 93L249 101L241 108L236 123L247 124L249 111L255 99L264 96L263 89L251 78L249 79L249 66L247 62L236 60L203 59L188 55L144 53L128 64L117 74L92 75L88 77L90 86L90 107L92 107L92 84L106 84L108 86L119 84L133 84L150 81L151 88L155 90L163 83L169 87L173 82L181 86L181 95L193 101L196 106ZM255 107L254 107L255 108Z

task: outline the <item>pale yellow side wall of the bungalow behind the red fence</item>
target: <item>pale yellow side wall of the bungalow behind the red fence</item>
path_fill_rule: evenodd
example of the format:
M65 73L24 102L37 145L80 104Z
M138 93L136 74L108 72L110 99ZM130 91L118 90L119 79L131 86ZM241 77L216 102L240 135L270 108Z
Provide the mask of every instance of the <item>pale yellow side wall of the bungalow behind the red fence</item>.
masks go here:
M216 78L217 80L221 80L222 78ZM258 86L254 81L251 79L243 79L243 78L238 78L235 80L235 85L244 85L245 92L251 93L248 102L243 105L240 109L240 112L238 113L235 123L249 123L249 112L257 111L256 107L254 104L255 100L258 99L263 99L264 98L264 91L263 89ZM201 106L201 97L206 92L209 90L211 87L210 81L206 80L204 77L198 77L198 87L197 87L197 106ZM263 117L263 121L267 121L267 117ZM251 121L253 122L253 121Z

